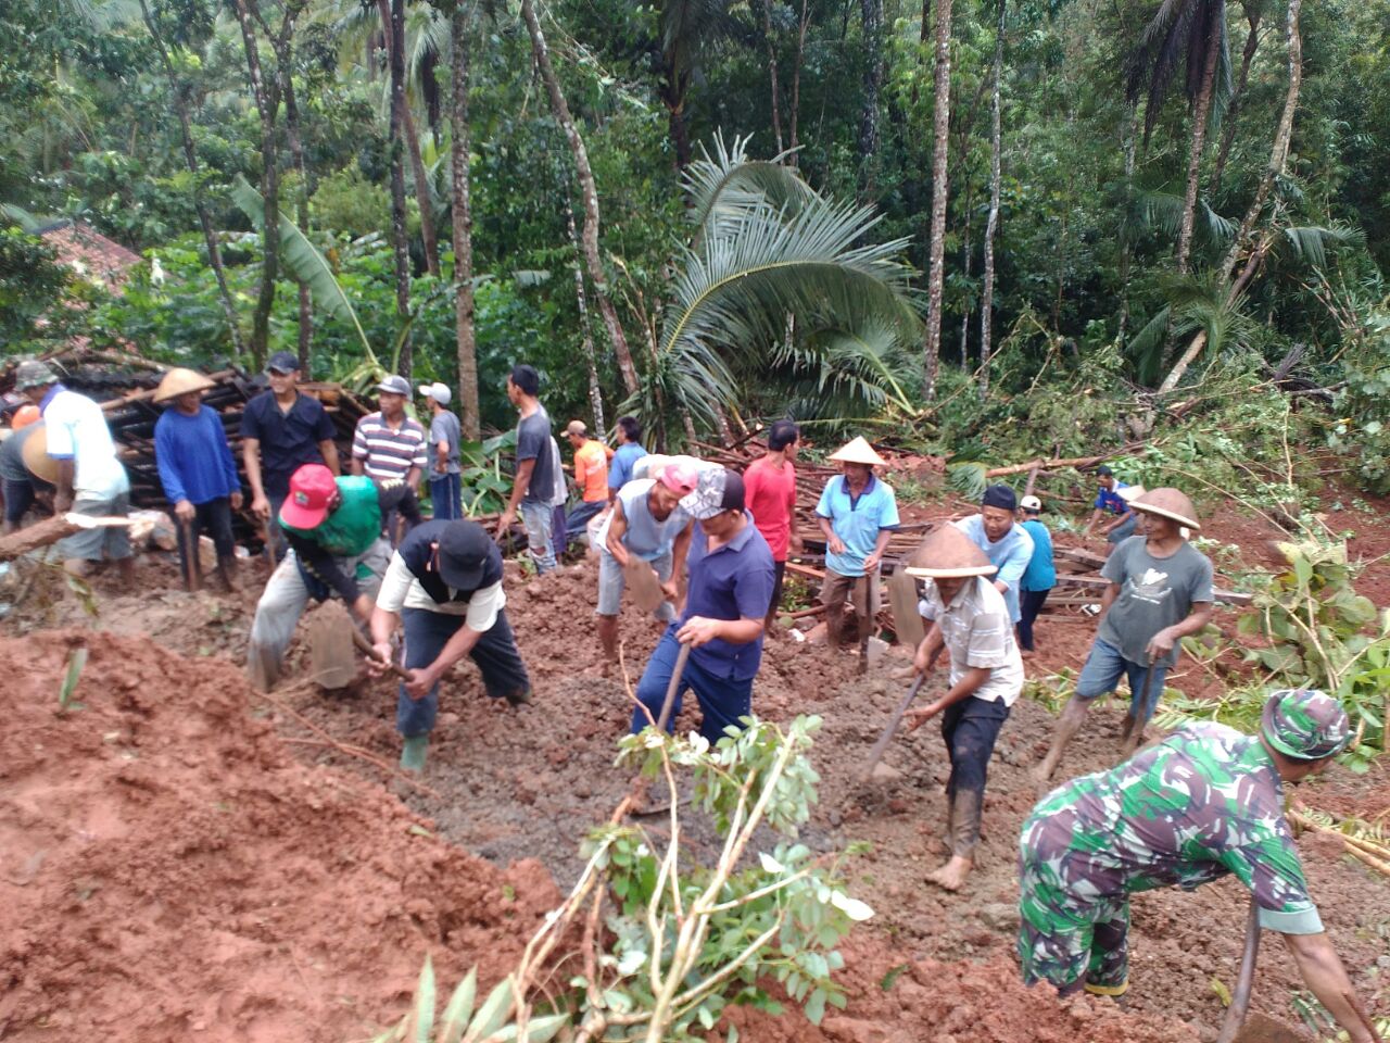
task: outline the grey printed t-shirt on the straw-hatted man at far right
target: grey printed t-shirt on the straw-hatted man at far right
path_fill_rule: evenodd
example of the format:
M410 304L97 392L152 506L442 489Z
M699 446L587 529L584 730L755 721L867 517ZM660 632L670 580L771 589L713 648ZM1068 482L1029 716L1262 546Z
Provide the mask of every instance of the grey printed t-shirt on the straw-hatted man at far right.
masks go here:
M1187 619L1194 604L1212 599L1212 563L1186 541L1169 558L1155 558L1148 537L1131 535L1115 548L1101 576L1118 583L1120 592L1095 636L1144 666L1154 634ZM1175 644L1159 663L1176 663L1177 649Z

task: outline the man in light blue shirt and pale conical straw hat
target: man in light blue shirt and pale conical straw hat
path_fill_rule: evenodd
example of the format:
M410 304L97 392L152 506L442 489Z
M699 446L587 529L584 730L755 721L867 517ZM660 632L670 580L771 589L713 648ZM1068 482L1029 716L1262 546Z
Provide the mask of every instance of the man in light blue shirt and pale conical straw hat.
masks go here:
M820 599L826 605L826 630L831 647L847 637L845 598L855 611L849 631L860 645L869 640L878 612L878 560L898 527L898 501L892 487L874 477L884 459L863 437L856 437L830 456L844 466L844 474L826 483L816 505L816 520L826 534L826 584ZM860 658L860 670L867 659Z

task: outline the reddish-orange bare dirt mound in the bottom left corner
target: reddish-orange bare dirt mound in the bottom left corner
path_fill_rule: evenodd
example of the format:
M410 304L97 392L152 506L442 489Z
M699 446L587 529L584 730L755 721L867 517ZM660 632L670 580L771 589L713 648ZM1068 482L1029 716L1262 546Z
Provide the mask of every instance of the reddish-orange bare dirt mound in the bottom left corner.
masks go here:
M90 658L60 716L70 649ZM288 755L228 663L101 633L0 641L0 1036L342 1040L425 953L505 972L557 901L381 786Z

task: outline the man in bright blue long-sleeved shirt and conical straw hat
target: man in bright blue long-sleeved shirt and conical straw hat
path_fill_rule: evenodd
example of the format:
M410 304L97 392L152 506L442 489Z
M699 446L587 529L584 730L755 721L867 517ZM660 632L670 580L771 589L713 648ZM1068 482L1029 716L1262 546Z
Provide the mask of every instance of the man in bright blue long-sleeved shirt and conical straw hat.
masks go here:
M154 392L156 405L171 403L154 423L154 463L164 498L178 523L178 555L183 576L199 567L202 530L217 548L217 574L235 588L236 542L232 512L242 508L242 480L217 413L203 405L213 381L200 373L172 369Z

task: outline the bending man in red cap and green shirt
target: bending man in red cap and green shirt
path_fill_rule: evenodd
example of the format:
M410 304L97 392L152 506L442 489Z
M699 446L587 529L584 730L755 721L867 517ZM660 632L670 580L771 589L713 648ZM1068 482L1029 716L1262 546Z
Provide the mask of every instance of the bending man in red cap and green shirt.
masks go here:
M335 478L321 463L306 463L289 478L279 524L289 551L271 574L256 605L246 670L259 691L270 691L309 599L338 594L363 623L373 594L391 559L381 535L382 519L396 510L410 527L420 524L420 503L403 481L375 483L366 476Z

